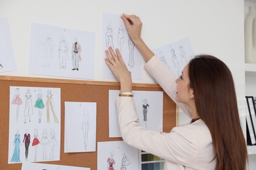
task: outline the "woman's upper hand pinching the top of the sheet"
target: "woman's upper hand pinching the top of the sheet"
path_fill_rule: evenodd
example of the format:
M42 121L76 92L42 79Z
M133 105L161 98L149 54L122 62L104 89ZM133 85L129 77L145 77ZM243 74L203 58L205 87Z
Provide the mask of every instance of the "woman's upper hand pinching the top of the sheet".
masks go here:
M131 40L136 44L136 42L141 39L140 34L142 29L142 22L140 21L139 16L122 14L121 19L125 23Z

